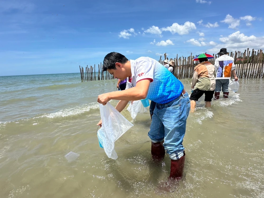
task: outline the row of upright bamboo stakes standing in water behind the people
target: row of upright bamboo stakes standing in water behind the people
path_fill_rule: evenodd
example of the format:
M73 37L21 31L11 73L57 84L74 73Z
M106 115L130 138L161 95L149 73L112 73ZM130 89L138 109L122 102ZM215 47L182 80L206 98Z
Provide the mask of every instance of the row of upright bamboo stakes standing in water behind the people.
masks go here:
M209 62L214 64L215 59L219 57L219 55L214 55L214 58L209 59ZM260 49L252 51L247 48L243 53L241 51L235 51L235 53L230 52L230 56L235 60L235 72L238 78L263 78L263 65L264 65L264 53ZM198 61L193 61L195 56L191 55L188 57L181 56L178 58L178 54L174 59L168 59L167 54L164 54L164 60L174 60L174 76L178 79L192 78L194 68ZM159 63L163 64L162 56L160 56ZM96 80L110 80L114 79L114 77L109 72L103 72L102 63L98 64L98 75L96 77L95 66L85 68L85 75L83 67L80 67L81 80L83 81L96 81ZM101 74L101 78L100 78ZM97 79L96 79L97 78Z

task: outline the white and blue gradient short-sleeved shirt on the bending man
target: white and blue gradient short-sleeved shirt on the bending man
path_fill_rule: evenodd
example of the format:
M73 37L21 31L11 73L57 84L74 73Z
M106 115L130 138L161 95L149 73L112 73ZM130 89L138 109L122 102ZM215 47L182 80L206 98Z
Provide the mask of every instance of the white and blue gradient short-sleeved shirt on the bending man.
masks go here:
M150 80L147 98L159 104L165 104L178 98L183 84L157 60L140 57L130 60L132 76L127 78L126 89L135 87L136 83Z

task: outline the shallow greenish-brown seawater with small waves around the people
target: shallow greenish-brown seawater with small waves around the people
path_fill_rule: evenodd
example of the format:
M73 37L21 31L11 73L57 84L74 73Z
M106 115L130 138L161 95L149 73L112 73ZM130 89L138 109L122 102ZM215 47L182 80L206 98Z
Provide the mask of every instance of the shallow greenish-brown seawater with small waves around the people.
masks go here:
M170 161L156 165L148 113L116 141L117 160L98 145L98 94L116 80L80 74L0 77L0 197L264 197L263 79L240 79L237 93L201 102L187 120L184 178L157 190ZM190 92L190 79L183 79ZM220 96L222 97L222 96ZM112 105L116 101L111 101ZM70 151L79 154L68 162Z

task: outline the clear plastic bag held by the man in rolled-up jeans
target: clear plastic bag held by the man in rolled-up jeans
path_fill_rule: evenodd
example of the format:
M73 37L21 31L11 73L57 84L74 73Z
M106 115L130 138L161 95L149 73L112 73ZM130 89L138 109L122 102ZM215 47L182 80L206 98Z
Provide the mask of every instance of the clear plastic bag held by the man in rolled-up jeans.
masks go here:
M97 132L99 143L105 150L107 157L117 159L115 141L121 137L133 124L131 124L109 102L106 105L99 104L102 127ZM101 147L100 146L100 147Z

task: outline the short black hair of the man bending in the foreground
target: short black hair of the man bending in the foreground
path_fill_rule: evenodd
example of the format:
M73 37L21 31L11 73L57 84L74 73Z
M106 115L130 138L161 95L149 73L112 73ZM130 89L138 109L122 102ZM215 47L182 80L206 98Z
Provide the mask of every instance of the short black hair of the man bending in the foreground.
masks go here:
M103 71L107 69L116 69L116 63L125 64L126 62L128 62L128 59L124 55L118 52L111 52L103 59Z

